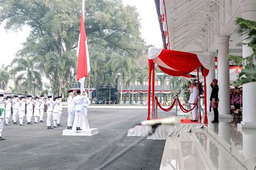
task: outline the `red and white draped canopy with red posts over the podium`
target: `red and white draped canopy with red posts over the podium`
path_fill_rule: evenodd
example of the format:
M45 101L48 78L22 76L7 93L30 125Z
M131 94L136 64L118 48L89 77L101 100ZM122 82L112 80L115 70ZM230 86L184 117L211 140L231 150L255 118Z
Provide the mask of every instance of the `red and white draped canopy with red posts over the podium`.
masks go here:
M204 55L196 55L188 52L173 51L166 49L158 49L156 47L149 48L149 80L151 80L152 72L152 103L154 104L154 66L158 65L159 69L166 74L171 76L184 76L192 77L190 72L197 70L201 71L204 81L206 82L206 76L208 75L209 69L213 66L210 57ZM199 75L197 75L199 78ZM149 81L149 93L151 91L151 81ZM205 94L205 115L207 114L206 104L206 86L204 86ZM150 120L150 95L149 95L149 106L147 119ZM153 109L152 109L153 112ZM205 116L205 122L207 123L207 115Z

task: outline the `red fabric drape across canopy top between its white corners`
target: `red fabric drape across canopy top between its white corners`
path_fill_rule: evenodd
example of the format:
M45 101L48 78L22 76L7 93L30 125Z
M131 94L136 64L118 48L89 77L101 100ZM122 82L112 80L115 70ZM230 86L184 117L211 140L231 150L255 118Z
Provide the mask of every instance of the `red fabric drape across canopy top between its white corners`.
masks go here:
M201 66L197 55L193 53L163 49L158 57L177 71L191 72Z

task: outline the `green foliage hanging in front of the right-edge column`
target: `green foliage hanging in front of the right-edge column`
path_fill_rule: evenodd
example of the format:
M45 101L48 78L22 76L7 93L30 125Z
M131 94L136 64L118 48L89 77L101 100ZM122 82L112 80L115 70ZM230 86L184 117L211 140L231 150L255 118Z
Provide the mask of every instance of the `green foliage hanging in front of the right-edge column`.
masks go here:
M239 25L239 33L247 42L244 43L244 45L252 47L253 50L253 54L251 56L247 56L244 58L228 55L229 60L234 60L236 65L243 66L241 72L238 75L238 80L234 82L235 85L242 85L256 81L256 22L237 18L235 23Z

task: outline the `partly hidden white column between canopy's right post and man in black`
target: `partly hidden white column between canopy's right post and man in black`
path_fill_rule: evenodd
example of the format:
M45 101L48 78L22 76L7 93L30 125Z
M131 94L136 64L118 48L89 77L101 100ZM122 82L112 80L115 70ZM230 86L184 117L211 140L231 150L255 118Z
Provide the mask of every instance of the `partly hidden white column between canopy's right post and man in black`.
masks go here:
M212 80L215 78L215 54L212 53L210 54L210 56L212 58L212 62L213 62L213 67L212 69L209 70L208 76L206 77L206 98L207 98L207 112L210 112L210 97L211 97L211 92L212 92L212 87L210 86L210 84L212 83ZM213 110L212 112L213 113Z

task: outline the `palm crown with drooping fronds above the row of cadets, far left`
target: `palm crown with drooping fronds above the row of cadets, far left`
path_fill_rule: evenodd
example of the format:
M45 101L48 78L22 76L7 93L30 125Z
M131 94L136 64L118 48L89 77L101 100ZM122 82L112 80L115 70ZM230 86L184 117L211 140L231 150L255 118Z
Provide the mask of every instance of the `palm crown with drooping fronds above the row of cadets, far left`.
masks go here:
M13 67L10 72L15 76L16 86L24 85L30 94L36 85L42 87L42 75L37 69L36 57L16 57L12 60L11 66Z

